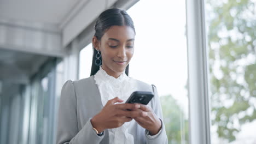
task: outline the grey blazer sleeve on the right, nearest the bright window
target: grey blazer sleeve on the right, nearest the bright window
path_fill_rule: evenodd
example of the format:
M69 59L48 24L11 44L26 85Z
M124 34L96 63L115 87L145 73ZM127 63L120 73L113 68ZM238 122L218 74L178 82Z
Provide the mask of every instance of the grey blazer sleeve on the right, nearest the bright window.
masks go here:
M154 138L150 138L147 136L148 134L148 130L145 130L145 134L146 134L146 143L147 144L153 144L153 143L163 143L163 144L167 144L168 143L168 139L167 139L167 135L166 135L166 131L165 131L165 124L163 121L163 116L162 116L162 107L161 107L161 103L160 103L160 99L158 96L158 91L156 90L155 85L152 85L153 87L153 92L154 92L154 98L153 98L153 111L155 112L156 116L159 117L161 123L162 123L162 127L161 127L161 131L160 134L158 134L158 136L154 137Z

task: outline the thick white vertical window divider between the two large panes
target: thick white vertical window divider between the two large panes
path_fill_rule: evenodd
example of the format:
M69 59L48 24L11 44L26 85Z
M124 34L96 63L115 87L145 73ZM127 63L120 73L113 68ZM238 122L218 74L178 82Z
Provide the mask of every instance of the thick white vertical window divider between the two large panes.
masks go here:
M187 0L189 143L211 143L208 52L203 0Z

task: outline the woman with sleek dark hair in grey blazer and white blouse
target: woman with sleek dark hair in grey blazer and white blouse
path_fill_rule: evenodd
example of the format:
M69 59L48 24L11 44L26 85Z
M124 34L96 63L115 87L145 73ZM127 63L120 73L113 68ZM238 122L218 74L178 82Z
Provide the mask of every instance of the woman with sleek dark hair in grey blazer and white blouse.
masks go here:
M156 87L127 76L134 40L133 21L124 10L101 13L91 76L62 88L57 143L167 143ZM154 98L148 105L125 104L134 91L154 92Z

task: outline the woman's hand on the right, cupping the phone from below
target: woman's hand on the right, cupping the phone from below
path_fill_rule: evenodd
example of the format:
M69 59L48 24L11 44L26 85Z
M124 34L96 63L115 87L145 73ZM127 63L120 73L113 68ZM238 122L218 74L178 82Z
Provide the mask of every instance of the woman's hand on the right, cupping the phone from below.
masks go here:
M139 109L132 110L132 118L141 125L141 127L149 130L150 135L155 135L161 129L161 121L150 106L139 104Z

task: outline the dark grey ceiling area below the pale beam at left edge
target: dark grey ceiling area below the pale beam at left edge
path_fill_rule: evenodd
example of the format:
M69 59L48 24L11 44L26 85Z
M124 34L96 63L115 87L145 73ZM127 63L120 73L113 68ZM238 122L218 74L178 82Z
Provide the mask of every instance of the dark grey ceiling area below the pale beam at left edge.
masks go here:
M0 49L0 80L28 83L49 56Z

